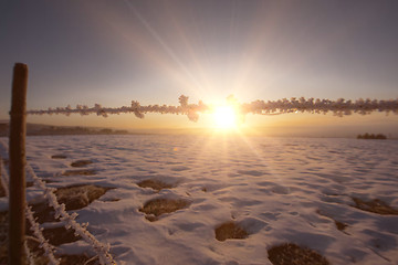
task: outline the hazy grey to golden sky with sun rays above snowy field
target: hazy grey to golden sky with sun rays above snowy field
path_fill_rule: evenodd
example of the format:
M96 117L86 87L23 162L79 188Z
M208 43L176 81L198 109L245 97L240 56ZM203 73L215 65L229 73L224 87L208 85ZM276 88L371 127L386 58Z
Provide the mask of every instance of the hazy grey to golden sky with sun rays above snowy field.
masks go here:
M4 0L0 120L12 67L29 66L28 109L209 104L291 97L398 98L397 1ZM270 134L398 137L398 115L245 117ZM28 121L127 129L201 128L184 116L29 116Z

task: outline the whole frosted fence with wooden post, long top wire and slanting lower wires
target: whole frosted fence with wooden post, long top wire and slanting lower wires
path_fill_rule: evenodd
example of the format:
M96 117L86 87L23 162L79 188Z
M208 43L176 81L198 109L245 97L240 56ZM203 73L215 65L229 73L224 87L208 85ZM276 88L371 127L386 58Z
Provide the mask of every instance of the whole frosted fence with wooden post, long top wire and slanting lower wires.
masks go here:
M10 150L13 149L13 156L10 151L7 150L7 146L0 141L0 146L6 148L10 157L10 165L13 166L13 169L10 168L10 178L6 170L4 163L0 157L0 174L1 174L1 183L4 187L6 195L10 201L10 216L13 216L14 220L19 221L21 227L24 226L24 218L29 220L31 223L31 230L34 234L34 240L40 243L40 247L44 250L44 254L49 258L49 264L57 265L60 264L60 259L57 259L54 255L55 247L49 243L48 240L42 234L42 229L40 224L33 216L32 208L28 206L28 202L25 201L24 192L24 178L25 172L33 179L34 186L43 191L43 197L48 200L48 204L55 210L55 219L60 219L64 222L66 229L73 229L75 234L82 236L94 250L97 254L100 263L102 265L114 265L116 262L109 253L111 245L103 244L95 239L93 234L87 231L88 223L80 224L75 221L77 213L69 214L65 211L65 205L60 204L54 194L55 189L49 188L45 186L45 182L41 180L34 172L34 170L27 163L25 155L24 155L24 136L25 136L25 115L71 115L71 114L80 114L91 115L96 114L97 116L108 117L109 115L115 114L134 114L137 118L144 118L146 114L174 114L174 115L187 115L189 120L198 121L200 114L211 113L214 110L216 106L207 105L203 102L199 102L198 104L190 104L188 102L189 97L181 95L179 99L178 106L172 105L147 105L142 106L139 102L132 100L130 106L122 106L122 107L103 107L100 104L95 104L93 107L88 107L86 105L76 105L75 108L72 108L71 105L66 107L55 107L48 109L32 109L25 110L25 96L27 96L27 84L28 84L28 66L25 64L17 63L14 66L13 73L13 84L12 84L12 108L10 112L11 123L10 123ZM248 114L253 115L281 115L281 114L290 114L290 113L311 113L311 114L327 114L333 113L333 115L343 117L353 114L359 115L369 115L371 113L389 113L398 114L398 98L397 99L387 99L387 100L378 100L378 99L356 99L356 100L346 100L344 98L339 98L337 100L331 99L320 99L320 98L295 98L292 97L290 99L282 98L279 100L254 100L252 103L243 103L240 104L237 98L233 96L229 96L227 98L228 105L233 107L233 110L239 116L245 116ZM15 165L21 167L15 167ZM17 168L22 168L18 169ZM14 182L12 184L10 179ZM14 180L15 179L15 180ZM15 184L17 183L17 184ZM21 186L21 187L18 187ZM10 189L9 189L10 187ZM19 198L19 195L22 198ZM21 212L17 212L11 209L12 198L14 203L17 202L17 208L24 206L24 216L21 215ZM18 198L18 200L15 199ZM21 229L24 232L24 229ZM12 231L10 229L9 236L11 237ZM22 264L24 262L24 257L19 258L18 255L23 256L24 254L28 257L28 262L30 264L34 264L34 257L32 253L30 253L29 247L27 245L27 241L24 240L23 234L18 234L17 240L13 239L13 243L10 242L10 252L12 254L9 255L10 259L12 258L15 264ZM23 251L20 248L20 243L23 244ZM17 255L15 255L17 254ZM12 261L11 261L12 263Z

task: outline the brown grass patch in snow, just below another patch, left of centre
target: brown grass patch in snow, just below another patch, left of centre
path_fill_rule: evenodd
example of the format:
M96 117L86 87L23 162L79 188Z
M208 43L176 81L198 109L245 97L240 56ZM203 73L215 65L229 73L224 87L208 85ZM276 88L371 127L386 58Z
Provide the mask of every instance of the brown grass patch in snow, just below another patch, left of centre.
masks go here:
M148 214L146 216L147 220L154 222L157 218L164 213L171 213L180 209L185 209L189 205L189 201L182 199L155 199L147 201L142 209L140 212Z

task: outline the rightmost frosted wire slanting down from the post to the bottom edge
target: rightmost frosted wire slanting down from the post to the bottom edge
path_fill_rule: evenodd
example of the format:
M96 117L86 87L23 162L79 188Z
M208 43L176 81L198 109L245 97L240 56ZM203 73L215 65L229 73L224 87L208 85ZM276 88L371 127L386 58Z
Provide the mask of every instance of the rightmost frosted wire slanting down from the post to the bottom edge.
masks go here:
M88 223L80 224L75 221L77 218L77 213L69 214L65 210L65 204L60 204L55 197L55 189L49 188L45 186L44 181L42 181L33 171L33 169L27 165L27 171L31 176L34 181L34 184L44 191L44 197L49 200L49 205L54 208L55 210L55 218L60 218L62 222L65 223L66 229L73 229L75 234L82 236L88 244L92 245L94 251L97 253L101 264L103 265L114 265L116 262L113 259L112 255L109 254L111 245L109 244L102 244L100 241L95 239L95 236L90 233L86 229Z

